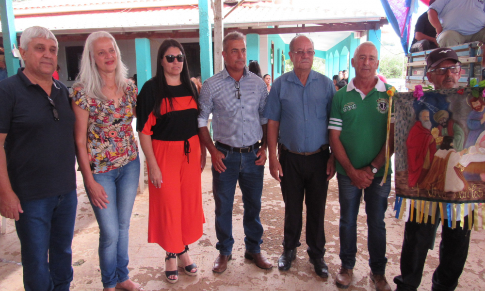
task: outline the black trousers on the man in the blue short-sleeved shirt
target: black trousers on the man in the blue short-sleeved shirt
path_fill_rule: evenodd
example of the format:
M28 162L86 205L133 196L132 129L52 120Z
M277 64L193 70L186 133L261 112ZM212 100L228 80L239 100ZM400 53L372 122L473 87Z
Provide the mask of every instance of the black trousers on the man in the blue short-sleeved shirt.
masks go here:
M283 169L281 193L285 201L285 249L300 245L303 226L303 199L307 206L306 240L308 255L312 259L325 254L325 202L327 200L328 149L310 156L280 151L279 162Z

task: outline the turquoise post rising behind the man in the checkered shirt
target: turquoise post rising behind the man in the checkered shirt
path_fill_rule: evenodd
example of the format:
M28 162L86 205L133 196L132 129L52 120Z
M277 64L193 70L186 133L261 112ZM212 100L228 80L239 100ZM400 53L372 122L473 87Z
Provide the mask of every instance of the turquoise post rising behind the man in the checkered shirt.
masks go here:
M209 0L199 0L200 75L202 81L213 75L212 27L209 19Z

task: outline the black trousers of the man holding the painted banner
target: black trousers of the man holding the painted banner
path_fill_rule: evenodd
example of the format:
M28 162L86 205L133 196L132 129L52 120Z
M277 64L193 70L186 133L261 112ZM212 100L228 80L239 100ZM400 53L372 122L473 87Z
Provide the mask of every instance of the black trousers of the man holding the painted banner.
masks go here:
M416 291L420 286L428 249L433 247L436 229L441 221L439 211L436 212L435 225L431 224L431 216L428 217L428 223L417 223L416 211L414 213L414 222L408 221L404 226L401 275L394 278L399 291ZM432 291L453 291L458 285L470 243L468 218L469 216L465 216L464 228L459 227L457 222L456 228L452 229L448 227L446 219L441 226L439 265L433 273Z

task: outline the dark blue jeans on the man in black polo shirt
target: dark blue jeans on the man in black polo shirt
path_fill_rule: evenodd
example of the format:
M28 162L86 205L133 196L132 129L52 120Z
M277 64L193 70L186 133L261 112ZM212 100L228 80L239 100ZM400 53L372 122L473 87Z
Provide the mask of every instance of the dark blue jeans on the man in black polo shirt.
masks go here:
M25 290L69 291L73 276L71 243L78 205L76 190L20 204L24 213L20 213L15 227Z

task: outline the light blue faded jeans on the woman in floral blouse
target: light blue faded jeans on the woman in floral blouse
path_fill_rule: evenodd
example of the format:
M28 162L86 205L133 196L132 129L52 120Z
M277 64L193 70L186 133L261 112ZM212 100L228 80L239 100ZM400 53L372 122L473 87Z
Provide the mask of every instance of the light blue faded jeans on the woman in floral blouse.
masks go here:
M104 187L110 201L105 209L91 205L99 225L101 282L104 288L113 288L116 283L129 279L129 220L138 189L140 159L137 157L122 167L93 176Z

